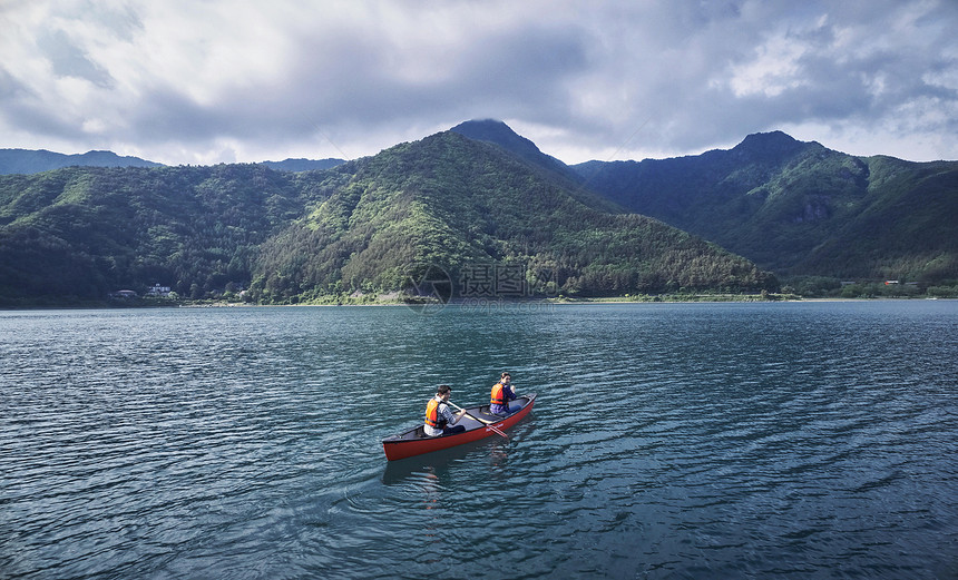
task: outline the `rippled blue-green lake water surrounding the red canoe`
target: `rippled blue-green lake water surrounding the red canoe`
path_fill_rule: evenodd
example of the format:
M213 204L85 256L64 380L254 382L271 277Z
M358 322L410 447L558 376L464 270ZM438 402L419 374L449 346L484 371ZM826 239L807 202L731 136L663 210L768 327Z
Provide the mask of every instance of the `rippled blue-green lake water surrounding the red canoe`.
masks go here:
M0 312L0 578L958 578L958 303ZM539 397L387 462L439 383Z

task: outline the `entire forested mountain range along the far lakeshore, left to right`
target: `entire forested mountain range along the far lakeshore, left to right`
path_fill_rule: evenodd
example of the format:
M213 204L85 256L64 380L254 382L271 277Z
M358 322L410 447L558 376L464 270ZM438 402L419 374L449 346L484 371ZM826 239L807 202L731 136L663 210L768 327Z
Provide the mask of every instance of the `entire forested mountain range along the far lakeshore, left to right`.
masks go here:
M264 304L414 295L433 267L450 297L500 267L512 297L776 289L763 269L833 288L958 278L954 161L859 158L773 132L569 168L498 121L324 170L287 161L0 176L0 304L157 284Z

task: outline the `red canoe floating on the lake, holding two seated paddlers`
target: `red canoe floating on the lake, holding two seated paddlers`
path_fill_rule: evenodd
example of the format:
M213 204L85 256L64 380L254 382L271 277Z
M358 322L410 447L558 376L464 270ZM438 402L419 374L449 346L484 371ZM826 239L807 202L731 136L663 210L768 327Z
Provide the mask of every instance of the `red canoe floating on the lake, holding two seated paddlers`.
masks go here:
M489 405L466 407L469 415L482 421L488 421L489 423L483 423L482 421L477 421L477 419L466 415L459 421L459 423L457 423L466 427L466 431L461 433L431 438L422 431L422 424L420 423L418 426L412 427L404 433L385 438L382 440L382 449L385 451L385 459L390 461L405 459L413 455L421 455L422 453L429 453L431 451L439 451L440 449L448 449L463 443L479 441L480 439L488 438L489 435L501 436L491 427L502 431L504 429L509 429L521 421L522 417L528 415L532 410L532 405L536 403L536 394L520 395L518 399L512 401L514 405L516 403L521 404L522 409L505 417L489 414Z

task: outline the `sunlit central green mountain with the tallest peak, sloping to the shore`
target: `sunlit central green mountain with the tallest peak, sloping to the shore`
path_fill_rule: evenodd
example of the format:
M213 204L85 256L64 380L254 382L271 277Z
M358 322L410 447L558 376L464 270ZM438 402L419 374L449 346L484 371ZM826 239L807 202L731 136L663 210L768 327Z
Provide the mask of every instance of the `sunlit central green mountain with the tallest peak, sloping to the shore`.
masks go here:
M508 264L521 265L521 288L512 289L526 295L775 286L715 245L645 216L593 208L565 180L454 131L326 175L322 187L332 195L264 244L254 297L398 291L428 266L449 276L453 296L468 296L470 277Z

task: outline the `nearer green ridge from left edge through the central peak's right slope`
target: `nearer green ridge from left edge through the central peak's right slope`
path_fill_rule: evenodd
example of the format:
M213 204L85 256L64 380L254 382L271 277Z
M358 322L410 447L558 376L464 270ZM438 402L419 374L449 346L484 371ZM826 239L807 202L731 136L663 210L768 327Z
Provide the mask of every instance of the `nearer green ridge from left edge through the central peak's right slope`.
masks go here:
M248 287L248 299L296 303L414 293L430 267L459 296L776 285L714 244L581 197L567 179L452 131L322 171L0 176L0 303L98 299L154 284L193 297Z

